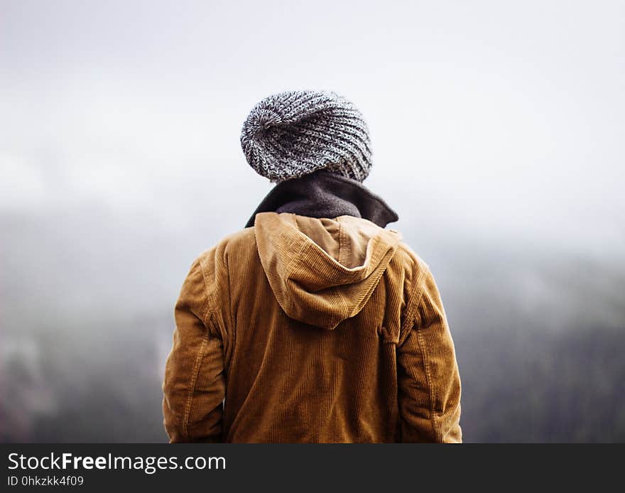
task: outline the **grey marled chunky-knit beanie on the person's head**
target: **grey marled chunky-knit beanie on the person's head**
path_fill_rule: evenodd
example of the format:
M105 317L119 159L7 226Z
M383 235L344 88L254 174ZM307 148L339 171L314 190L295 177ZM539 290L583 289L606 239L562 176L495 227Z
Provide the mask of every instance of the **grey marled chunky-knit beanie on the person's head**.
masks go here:
M281 182L325 169L362 181L371 168L369 129L335 92L289 91L256 104L241 131L256 173Z

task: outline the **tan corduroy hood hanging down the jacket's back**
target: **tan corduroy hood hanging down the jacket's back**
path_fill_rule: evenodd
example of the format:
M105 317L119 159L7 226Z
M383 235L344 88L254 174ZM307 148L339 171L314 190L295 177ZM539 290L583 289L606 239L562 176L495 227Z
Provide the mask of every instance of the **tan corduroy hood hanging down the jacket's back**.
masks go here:
M254 234L286 315L329 330L362 310L401 242L396 230L350 215L260 212Z

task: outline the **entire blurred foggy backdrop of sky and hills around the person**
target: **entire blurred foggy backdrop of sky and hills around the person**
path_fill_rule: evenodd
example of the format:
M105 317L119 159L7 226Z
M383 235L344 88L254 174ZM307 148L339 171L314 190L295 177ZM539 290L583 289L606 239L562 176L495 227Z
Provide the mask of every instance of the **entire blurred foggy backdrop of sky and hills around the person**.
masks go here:
M173 305L271 183L274 92L362 109L468 442L625 441L621 1L0 0L0 440L161 442Z

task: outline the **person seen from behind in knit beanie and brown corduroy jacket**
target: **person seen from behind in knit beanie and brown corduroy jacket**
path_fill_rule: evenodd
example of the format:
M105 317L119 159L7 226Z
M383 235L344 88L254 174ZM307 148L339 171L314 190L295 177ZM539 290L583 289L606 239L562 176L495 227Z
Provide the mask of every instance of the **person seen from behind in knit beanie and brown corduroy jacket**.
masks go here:
M241 146L276 186L183 283L163 381L170 442L460 442L440 293L362 185L361 112L334 92L273 94Z

